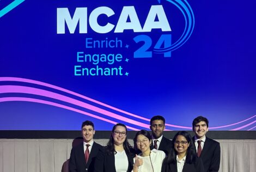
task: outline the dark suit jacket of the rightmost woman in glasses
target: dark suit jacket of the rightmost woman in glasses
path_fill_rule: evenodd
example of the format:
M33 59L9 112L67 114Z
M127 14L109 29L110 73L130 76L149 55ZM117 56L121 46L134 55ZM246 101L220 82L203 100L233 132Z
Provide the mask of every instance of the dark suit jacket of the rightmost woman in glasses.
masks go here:
M163 163L161 172L177 172L177 163L166 164ZM186 163L182 169L182 172L204 172L204 165L202 159L196 158L196 161L192 164Z

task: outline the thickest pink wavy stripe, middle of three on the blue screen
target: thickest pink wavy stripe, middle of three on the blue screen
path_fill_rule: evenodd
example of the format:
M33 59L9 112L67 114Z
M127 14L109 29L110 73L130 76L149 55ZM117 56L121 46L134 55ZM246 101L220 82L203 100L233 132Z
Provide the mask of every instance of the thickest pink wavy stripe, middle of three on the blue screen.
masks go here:
M61 100L61 101L64 101L64 102L72 103L73 105L77 105L77 106L80 106L80 107L84 107L84 108L93 110L95 112L110 116L110 117L115 118L115 119L119 119L119 120L122 120L122 121L129 122L130 124L134 124L134 125L137 125L137 126L142 126L142 127L145 127L145 128L149 128L149 125L144 124L142 122L135 121L135 120L126 118L124 116L112 113L112 112L108 112L107 110L95 107L93 105L89 105L88 103L84 103L82 101L75 100L75 99L72 99L70 97L60 95L60 94L57 94L57 93L53 93L53 92L47 91L47 90L42 90L42 89L32 88L32 87L25 87L25 86L17 86L17 85L1 85L0 86L0 93L26 93L26 94L34 94L34 95L50 97L52 99Z

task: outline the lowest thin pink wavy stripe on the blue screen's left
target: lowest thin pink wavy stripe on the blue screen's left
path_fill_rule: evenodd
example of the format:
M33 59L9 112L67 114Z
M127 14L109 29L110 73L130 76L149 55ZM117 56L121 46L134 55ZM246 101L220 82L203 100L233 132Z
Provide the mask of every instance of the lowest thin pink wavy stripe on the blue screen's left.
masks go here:
M58 103L45 101L45 100L40 100L40 99L33 99L33 98L27 98L27 97L3 97L3 98L0 98L0 102L7 102L7 101L26 101L26 102L42 103L42 104L46 104L46 105L60 107L60 108L63 108L63 109L68 109L68 110L71 110L71 111L74 111L74 112L77 112L77 113L81 113L81 114L84 114L84 115L92 116L93 118L100 119L100 120L109 122L111 124L117 124L118 123L118 122L111 121L111 120L108 120L106 118L102 118L100 116L97 116L97 115L94 115L94 114L91 114L91 113L88 113L88 112L84 112L83 110L79 110L79 109L72 108L72 107L69 107L69 106L60 105ZM139 129L137 129L137 128L133 128L133 127L130 127L130 126L126 126L126 127L131 129L131 130L139 131Z

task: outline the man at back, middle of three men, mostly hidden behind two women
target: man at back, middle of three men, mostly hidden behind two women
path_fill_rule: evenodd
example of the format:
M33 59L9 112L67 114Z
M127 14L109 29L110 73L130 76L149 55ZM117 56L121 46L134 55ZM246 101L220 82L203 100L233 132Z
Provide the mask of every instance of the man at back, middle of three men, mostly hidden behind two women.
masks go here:
M166 128L165 124L166 120L163 116L157 115L150 119L150 130L152 131L153 140L150 148L164 151L168 155L172 149L172 141L163 136L163 130Z

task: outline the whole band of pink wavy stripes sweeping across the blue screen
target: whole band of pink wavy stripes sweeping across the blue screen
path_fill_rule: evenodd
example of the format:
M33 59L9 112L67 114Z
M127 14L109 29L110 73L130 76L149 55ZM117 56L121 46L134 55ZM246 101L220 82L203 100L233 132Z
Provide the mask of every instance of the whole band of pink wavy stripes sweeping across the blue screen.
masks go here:
M0 102L26 101L26 102L42 103L45 105L64 108L64 109L72 110L73 112L92 116L93 118L100 119L102 121L106 121L111 124L116 124L118 122L127 122L133 126L137 126L137 127L132 127L128 125L127 127L130 130L139 130L139 128L141 127L146 129L149 128L150 119L148 118L144 118L143 116L126 112L125 110L115 108L113 106L107 105L106 103L102 103L100 101L91 99L84 95L75 93L74 91L57 87L56 85L52 85L52 84L48 84L40 81L34 81L32 79L26 79L26 78L0 77L0 83L4 81L15 82L15 85L11 85L11 84L0 85L0 94L8 93L8 96L0 98ZM17 83L20 83L20 82L22 82L22 85L17 85ZM24 86L24 83L28 85ZM34 87L31 87L31 84L34 84ZM41 88L42 86L45 87L45 89L42 89ZM36 87L40 87L40 88L36 88ZM47 90L49 88L51 88L51 90ZM56 90L56 92L58 93L54 93L52 89ZM59 91L62 91L62 94L60 94ZM10 96L10 94L14 94L14 96ZM20 96L18 97L15 94L32 95L34 97L33 98L20 97ZM71 95L80 97L84 101L78 100L78 98L77 99L71 98L70 97ZM48 99L48 100L45 100L45 99ZM62 103L64 105L62 105ZM77 108L75 108L74 106ZM82 108L83 110L81 110L80 108ZM86 112L86 110L90 110L95 114ZM251 127L249 128L249 130L253 130L253 128L255 128L255 122L256 122L256 115L253 115L250 118L236 122L234 124L217 126L217 127L209 127L209 129L210 130L218 129L218 128L225 129L232 126L234 127L233 129L231 129L232 131L241 130L245 127ZM173 128L175 128L176 130L192 129L191 127L187 127L187 126L179 126L179 125L173 125L168 123L166 124L166 130L173 130Z

